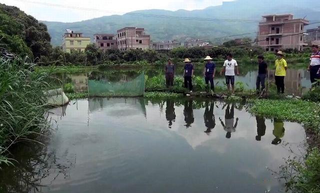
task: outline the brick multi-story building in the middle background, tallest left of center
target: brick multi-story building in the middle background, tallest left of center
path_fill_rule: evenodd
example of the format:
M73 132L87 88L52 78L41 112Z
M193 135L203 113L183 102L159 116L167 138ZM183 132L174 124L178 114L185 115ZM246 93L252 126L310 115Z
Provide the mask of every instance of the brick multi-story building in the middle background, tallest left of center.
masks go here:
M128 49L149 49L150 35L145 35L144 28L124 27L116 31L117 48Z

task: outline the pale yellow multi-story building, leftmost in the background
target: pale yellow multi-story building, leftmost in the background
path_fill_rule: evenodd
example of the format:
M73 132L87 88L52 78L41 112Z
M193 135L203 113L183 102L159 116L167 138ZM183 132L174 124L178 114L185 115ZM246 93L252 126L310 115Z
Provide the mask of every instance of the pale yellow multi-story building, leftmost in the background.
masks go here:
M84 51L90 43L90 37L84 37L82 33L74 33L70 29L65 31L62 37L62 50L65 52Z

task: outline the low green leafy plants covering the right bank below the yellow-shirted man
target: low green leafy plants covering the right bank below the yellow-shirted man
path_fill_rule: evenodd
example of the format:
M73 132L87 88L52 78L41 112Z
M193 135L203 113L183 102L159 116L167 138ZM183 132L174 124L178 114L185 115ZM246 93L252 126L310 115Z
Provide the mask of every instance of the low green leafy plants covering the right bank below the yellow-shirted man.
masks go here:
M250 112L269 118L303 123L315 131L320 129L319 105L303 100L254 100Z

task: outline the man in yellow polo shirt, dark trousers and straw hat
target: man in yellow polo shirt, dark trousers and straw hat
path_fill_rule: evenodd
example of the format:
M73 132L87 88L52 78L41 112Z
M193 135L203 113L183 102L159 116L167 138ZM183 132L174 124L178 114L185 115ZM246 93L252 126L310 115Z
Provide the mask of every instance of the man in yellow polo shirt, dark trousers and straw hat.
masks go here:
M274 79L275 79L275 85L278 94L284 93L284 77L286 74L286 69L287 69L287 64L286 61L283 59L283 53L282 51L278 51L276 53L276 60L275 60L275 74L274 74Z

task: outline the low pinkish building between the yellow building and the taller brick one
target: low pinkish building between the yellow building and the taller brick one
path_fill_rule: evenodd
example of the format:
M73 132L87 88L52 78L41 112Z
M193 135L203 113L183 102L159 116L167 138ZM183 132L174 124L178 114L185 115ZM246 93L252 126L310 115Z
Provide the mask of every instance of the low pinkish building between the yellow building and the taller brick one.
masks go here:
M103 51L117 48L117 41L114 34L96 33L93 35L93 41L95 45Z

